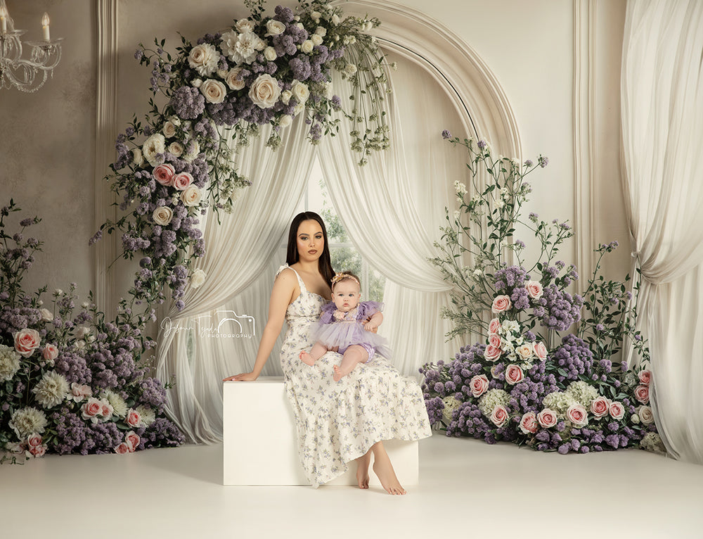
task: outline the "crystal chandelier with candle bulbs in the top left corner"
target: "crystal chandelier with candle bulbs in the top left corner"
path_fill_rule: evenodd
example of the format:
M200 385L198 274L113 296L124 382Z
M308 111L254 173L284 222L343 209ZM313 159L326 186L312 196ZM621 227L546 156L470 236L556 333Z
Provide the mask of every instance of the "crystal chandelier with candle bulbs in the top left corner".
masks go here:
M27 41L32 47L30 58L22 58L20 36L27 30L15 30L13 20L7 11L5 0L0 0L0 88L17 88L21 91L37 91L44 86L46 77L53 76L61 59L61 41L51 39L49 15L41 18L41 41Z

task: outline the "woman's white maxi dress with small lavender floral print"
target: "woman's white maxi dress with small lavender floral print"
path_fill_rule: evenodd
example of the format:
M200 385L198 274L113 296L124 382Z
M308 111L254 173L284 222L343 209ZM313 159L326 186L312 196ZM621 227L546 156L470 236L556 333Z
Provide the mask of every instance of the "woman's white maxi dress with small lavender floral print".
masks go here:
M314 344L311 328L325 299L307 291L296 276L300 295L285 312L280 364L295 414L298 455L308 481L318 487L344 474L349 462L380 440L431 436L430 421L418 383L401 376L385 357L357 365L338 382L332 375L340 354L328 352L312 367L299 359L300 350Z

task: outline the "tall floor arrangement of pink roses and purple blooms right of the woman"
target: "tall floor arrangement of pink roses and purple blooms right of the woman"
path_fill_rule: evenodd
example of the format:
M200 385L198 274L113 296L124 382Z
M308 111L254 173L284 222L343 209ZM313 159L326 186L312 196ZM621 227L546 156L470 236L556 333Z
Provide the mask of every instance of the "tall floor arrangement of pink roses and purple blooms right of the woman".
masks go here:
M572 295L567 289L579 278L576 268L555 260L573 235L569 224L534 213L520 218L531 191L524 179L548 159L518 163L494 156L485 141L443 136L467 149L475 195L467 199L466 186L455 183L459 209L446 211L442 243L435 244L440 254L431 261L454 287L453 306L443 313L454 324L449 336L485 340L460 348L454 360L420 369L432 424L444 426L447 436L562 454L631 447L665 452L649 406L652 375L635 329L630 277L607 281L598 274L617 242L598 248L586 291ZM479 177L486 182L479 184ZM529 268L525 244L514 236L518 230L534 234L541 246ZM564 333L577 322L576 333ZM623 338L641 357L637 372L612 362Z

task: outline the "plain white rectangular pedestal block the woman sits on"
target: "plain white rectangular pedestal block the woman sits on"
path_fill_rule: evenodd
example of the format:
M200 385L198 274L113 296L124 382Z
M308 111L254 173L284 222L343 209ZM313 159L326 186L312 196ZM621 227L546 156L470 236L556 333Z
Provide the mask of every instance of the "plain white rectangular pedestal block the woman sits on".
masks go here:
M225 485L308 485L297 452L295 419L282 376L225 382L223 391ZM401 485L417 485L418 442L383 442ZM373 464L373 459L372 459ZM380 486L370 474L370 485ZM356 485L356 466L330 486Z

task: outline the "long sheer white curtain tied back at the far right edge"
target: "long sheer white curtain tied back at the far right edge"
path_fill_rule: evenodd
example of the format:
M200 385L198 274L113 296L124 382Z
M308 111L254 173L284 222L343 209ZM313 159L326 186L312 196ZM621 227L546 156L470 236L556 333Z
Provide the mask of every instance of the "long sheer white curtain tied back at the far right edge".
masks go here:
M643 274L652 406L674 457L703 464L703 2L630 0L624 191Z

